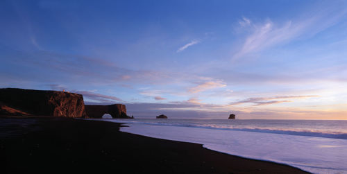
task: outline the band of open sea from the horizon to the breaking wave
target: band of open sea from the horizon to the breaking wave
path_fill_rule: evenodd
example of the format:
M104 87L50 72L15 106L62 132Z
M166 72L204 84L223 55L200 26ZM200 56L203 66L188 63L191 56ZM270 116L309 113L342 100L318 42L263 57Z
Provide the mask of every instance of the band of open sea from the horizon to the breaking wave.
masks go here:
M112 120L112 119L111 119ZM144 125L184 126L217 130L240 130L294 134L310 137L347 139L346 121L322 120L221 120L221 119L134 119L119 120L123 123Z

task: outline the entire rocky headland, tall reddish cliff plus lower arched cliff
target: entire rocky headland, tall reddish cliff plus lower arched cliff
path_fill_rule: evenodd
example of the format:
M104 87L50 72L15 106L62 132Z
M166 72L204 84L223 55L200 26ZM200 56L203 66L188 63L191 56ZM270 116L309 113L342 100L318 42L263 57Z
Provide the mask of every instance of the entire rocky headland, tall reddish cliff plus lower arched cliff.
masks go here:
M33 89L0 89L0 116L64 116L71 118L132 119L126 105L85 105L81 94Z

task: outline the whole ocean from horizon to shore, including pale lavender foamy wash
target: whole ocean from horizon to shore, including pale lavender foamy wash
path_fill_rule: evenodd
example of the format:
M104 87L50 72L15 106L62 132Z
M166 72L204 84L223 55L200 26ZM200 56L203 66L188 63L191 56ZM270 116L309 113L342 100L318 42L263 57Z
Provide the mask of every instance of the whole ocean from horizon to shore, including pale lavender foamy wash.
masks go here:
M221 153L288 164L311 173L347 173L347 121L101 119L122 132L201 143Z

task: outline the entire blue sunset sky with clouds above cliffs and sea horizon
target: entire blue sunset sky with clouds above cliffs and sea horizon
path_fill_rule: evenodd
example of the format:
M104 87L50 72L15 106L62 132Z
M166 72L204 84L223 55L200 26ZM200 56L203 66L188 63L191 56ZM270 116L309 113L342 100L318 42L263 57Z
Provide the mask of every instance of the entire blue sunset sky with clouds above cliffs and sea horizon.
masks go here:
M0 1L0 87L135 118L347 119L347 1Z

